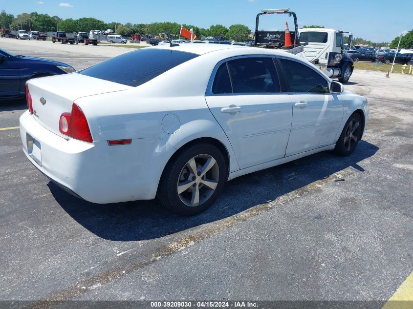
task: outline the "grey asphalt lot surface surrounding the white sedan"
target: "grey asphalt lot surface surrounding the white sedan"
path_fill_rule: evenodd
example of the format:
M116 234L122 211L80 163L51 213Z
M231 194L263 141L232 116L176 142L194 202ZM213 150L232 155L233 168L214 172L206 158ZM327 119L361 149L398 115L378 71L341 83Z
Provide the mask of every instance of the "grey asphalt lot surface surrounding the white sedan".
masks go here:
M0 48L76 69L131 50ZM413 76L360 70L345 88L370 104L351 156L239 177L190 218L67 194L22 152L25 103L1 103L0 300L388 300L413 271Z

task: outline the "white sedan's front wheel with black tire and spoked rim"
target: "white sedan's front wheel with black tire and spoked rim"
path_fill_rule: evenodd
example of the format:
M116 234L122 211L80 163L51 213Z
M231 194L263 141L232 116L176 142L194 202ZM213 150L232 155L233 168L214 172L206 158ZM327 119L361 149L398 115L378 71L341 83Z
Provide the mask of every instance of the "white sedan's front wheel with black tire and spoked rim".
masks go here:
M363 124L360 115L353 113L344 125L343 131L334 148L334 153L340 156L349 156L360 141L362 127Z

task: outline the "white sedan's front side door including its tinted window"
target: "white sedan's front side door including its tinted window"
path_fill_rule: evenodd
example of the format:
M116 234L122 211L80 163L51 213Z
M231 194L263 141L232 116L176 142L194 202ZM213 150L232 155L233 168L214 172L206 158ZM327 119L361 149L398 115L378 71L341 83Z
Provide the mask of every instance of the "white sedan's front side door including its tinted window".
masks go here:
M282 57L279 62L293 108L285 155L334 144L343 117L341 95L330 93L329 83L316 68Z

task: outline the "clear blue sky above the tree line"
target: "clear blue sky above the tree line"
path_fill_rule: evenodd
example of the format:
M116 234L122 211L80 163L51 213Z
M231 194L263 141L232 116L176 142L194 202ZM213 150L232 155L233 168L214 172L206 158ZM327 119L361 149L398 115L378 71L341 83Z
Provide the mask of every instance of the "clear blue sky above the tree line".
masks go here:
M299 27L317 24L349 31L365 40L390 42L413 29L411 2L396 1L394 9L389 6L391 3L389 0L0 0L0 10L15 16L36 11L61 18L94 17L105 22L175 21L200 28L241 23L254 30L255 17L262 9L289 8L297 14ZM285 21L292 30L292 18L264 16L260 19L260 30L284 29Z

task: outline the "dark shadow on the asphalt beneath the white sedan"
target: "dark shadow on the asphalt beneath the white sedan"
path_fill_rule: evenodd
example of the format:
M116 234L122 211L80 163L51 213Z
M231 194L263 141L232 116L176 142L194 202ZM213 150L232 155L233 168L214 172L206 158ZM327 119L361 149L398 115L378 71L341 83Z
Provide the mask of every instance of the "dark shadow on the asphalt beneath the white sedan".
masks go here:
M213 206L193 217L176 215L163 208L157 200L93 204L73 197L53 182L49 182L48 186L59 205L97 236L112 241L149 240L227 218L327 178L349 166L363 172L364 169L358 163L373 156L378 149L373 144L361 141L348 157L325 151L241 176L225 184Z

